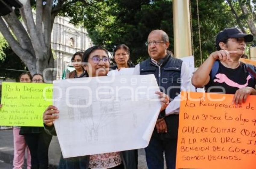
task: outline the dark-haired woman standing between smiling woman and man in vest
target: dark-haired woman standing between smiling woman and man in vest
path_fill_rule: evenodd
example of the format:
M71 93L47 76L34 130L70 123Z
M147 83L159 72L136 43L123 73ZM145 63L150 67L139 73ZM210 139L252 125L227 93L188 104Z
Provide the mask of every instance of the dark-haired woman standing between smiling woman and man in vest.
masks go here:
M117 45L114 49L114 60L117 65L110 67L112 70L120 70L121 68L134 67L130 63L130 49L125 44Z

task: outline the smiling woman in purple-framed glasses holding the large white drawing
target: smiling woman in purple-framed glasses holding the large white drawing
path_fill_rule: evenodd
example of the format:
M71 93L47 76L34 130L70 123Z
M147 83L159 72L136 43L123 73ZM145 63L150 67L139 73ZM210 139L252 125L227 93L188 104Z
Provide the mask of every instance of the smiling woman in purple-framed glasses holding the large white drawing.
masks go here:
M93 46L87 49L83 55L83 62L88 64L84 66L89 77L107 76L110 63L108 51L101 46ZM89 66L88 66L89 65ZM49 106L43 115L45 130L52 135L56 135L53 122L58 118L58 108ZM53 115L54 114L54 115ZM65 159L67 169L135 169L134 159L123 158L123 152L113 152L96 154L90 156L80 156Z

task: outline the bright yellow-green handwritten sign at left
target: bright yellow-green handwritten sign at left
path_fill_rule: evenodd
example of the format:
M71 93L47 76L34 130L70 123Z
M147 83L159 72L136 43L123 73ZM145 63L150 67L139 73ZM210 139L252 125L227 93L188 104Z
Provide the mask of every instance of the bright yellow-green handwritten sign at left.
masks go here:
M52 84L3 82L0 126L43 126L52 91Z

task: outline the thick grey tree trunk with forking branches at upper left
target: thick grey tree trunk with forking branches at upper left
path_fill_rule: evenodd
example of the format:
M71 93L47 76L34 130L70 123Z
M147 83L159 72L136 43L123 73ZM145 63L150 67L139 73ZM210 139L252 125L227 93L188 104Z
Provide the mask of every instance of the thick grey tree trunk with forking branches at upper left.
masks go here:
M0 31L16 55L26 64L33 75L40 73L46 82L53 80L52 72L54 59L51 50L52 32L52 0L43 7L42 0L36 1L36 23L33 18L30 1L27 1L20 13L24 24L15 15L14 11L0 17ZM4 20L5 21L4 21ZM26 25L24 28L23 25ZM9 30L11 29L11 31Z

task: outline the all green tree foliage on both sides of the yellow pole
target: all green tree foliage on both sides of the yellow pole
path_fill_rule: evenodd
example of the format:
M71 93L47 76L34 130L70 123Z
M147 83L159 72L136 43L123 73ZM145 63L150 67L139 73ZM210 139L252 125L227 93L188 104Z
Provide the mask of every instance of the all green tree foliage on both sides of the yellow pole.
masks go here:
M254 1L252 3L255 3ZM131 60L138 63L148 58L145 41L153 29L167 32L170 40L169 50L174 51L172 7L171 0L111 0L95 3L86 11L82 7L73 6L70 10L76 9L76 13L69 11L66 16L72 17L71 22L74 24L83 23L94 44L103 45L110 52L114 46L125 43L131 49ZM236 7L238 8L239 4L236 4ZM216 50L214 43L219 31L233 26L244 28L246 21L241 17L242 26L239 25L229 4L224 0L198 1L198 9L204 61ZM199 66L201 59L196 1L191 1L191 13L193 50L196 66Z

